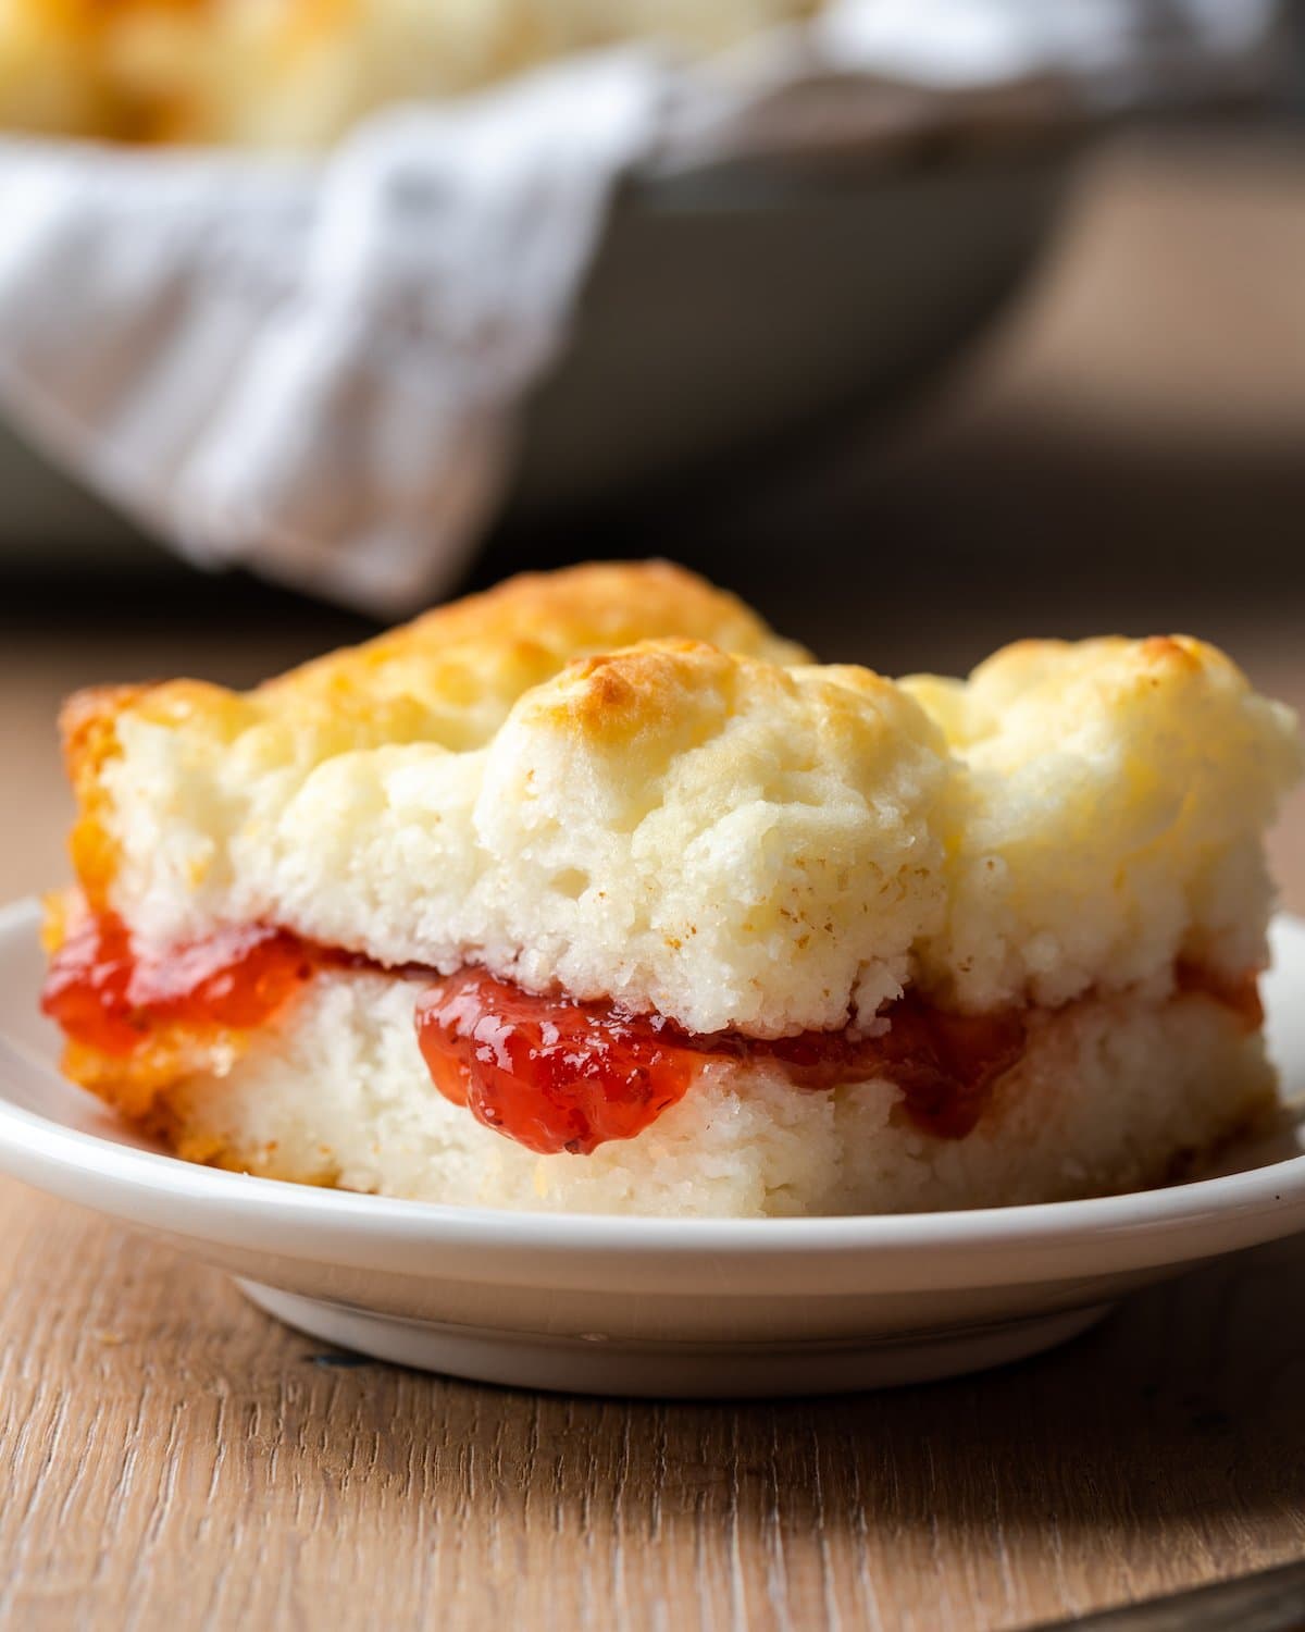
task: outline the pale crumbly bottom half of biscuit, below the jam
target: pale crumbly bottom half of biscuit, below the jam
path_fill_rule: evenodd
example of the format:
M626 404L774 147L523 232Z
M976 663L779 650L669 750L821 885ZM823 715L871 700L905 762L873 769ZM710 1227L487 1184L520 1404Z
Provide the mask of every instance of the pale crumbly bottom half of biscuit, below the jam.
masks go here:
M1018 1061L964 1138L907 1115L886 1077L794 1087L710 1059L638 1138L540 1155L436 1092L419 986L325 969L220 1069L170 1084L150 1126L183 1157L426 1201L558 1213L759 1217L910 1213L1103 1195L1183 1177L1267 1113L1246 1015L1209 992L1029 1010Z

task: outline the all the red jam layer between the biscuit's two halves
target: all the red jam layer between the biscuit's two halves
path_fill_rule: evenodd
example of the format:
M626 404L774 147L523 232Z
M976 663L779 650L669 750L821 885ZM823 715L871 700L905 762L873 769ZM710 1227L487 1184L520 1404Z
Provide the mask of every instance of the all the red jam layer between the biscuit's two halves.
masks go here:
M54 955L41 1007L72 1041L130 1056L168 1027L251 1031L328 965L369 966L263 924L152 955L134 947L121 919L101 914L75 925ZM416 1033L439 1092L542 1154L587 1155L633 1139L713 1061L778 1067L811 1092L887 1077L917 1128L962 1139L1020 1059L1028 1030L1021 1009L959 1015L907 992L878 1017L878 1036L843 1028L765 1040L537 996L470 966L442 978L395 973L424 982ZM1246 1030L1263 1020L1254 974L1232 979L1183 963L1178 986L1225 1004Z

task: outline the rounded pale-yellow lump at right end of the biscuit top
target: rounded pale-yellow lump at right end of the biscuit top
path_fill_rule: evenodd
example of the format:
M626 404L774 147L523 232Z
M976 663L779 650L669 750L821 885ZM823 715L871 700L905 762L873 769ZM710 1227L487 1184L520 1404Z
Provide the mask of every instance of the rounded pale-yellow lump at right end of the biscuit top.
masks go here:
M1189 636L1018 641L902 681L958 761L948 924L923 953L969 1009L1264 963L1261 837L1300 774L1290 710Z

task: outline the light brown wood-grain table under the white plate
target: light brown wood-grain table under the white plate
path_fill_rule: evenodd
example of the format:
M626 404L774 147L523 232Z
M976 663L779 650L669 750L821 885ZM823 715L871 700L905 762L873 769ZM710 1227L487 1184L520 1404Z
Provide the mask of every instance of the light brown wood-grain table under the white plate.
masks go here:
M1272 211L1256 214L1256 197L1264 206L1274 196L1272 173L1264 181L1256 170L1261 193L1248 204L1243 184L1220 193L1207 176L1192 189L1186 171L1130 163L1090 196L1078 230L1098 259L1082 256L1109 271L1127 228L1163 263L1174 253L1174 212L1189 235L1184 264L1192 243L1207 251L1191 259L1183 286L1194 307L1189 328L1150 372L1132 369L1132 341L1121 346L1117 416L1104 415L1135 424L1135 382L1160 392L1153 374L1170 379L1168 418L1153 403L1142 415L1147 446L1166 449L1147 477L1150 501L1139 498L1137 460L1121 478L1109 460L1083 455L1088 475L1075 477L1068 460L1036 491L1010 477L1033 446L1029 428L1064 410L1075 346L1099 413L1109 369L1099 344L1075 328L1083 313L1070 294L1093 286L1080 256L1054 274L1060 294L1044 294L1031 330L1011 341L997 384L985 387L989 408L962 398L951 429L943 416L944 429L902 454L904 463L889 460L869 477L858 470L847 483L853 498L834 506L838 526L858 514L883 526L887 514L904 529L894 537L928 553L954 526L940 481L958 483L967 512L992 527L995 592L982 594L975 579L925 602L928 617L905 620L874 612L874 586L863 601L834 597L863 609L858 623L850 614L830 619L827 592L804 597L754 561L762 599L786 607L799 633L894 669L966 663L1021 628L1181 620L1225 640L1263 685L1305 705L1298 579L1264 571L1259 589L1248 589L1236 530L1240 516L1254 514L1235 499L1236 481L1263 499L1246 470L1261 470L1274 426L1295 441L1284 441L1292 454L1272 465L1272 480L1305 504L1294 452L1305 405L1282 380L1289 369L1269 328L1259 366L1267 397L1279 390L1277 418L1246 436L1250 465L1219 442L1227 472L1215 488L1232 517L1223 553L1215 547L1204 566L1183 573L1145 573L1135 560L1119 566L1152 540L1161 561L1171 560L1165 552L1209 516L1209 486L1183 509L1188 490L1174 481L1168 450L1194 447L1191 468L1205 468L1204 431L1188 423L1184 367L1199 375L1209 366L1199 346L1192 362L1192 336L1209 328L1210 310L1223 310L1219 251L1230 215L1243 246L1246 220L1256 227L1250 261L1271 277L1274 299L1295 290L1297 322L1305 312L1298 215L1284 214L1274 237ZM1142 211L1140 199L1152 207ZM1161 222L1170 211L1168 232L1153 228L1157 209ZM1192 292L1202 276L1212 281L1204 317ZM1263 300L1256 308L1263 323ZM1113 310L1127 336L1122 295ZM1302 379L1297 372L1294 385ZM1073 410L1055 421L1060 446L1099 447L1082 419L1068 424L1082 413L1072 393L1068 401ZM1269 415L1261 397L1251 401L1250 419ZM1041 446L1052 444L1054 434ZM992 449L1005 449L1005 463ZM1029 455L1028 468L1046 472L1051 457ZM985 485L989 467L997 475ZM1077 480L1098 496L1101 483L1116 483L1122 534L1109 583L1095 557L1086 574L1000 558L998 530L1011 517L1033 527L1037 506L1057 493L1060 509L1073 509L1065 493ZM1155 498L1157 483L1173 503ZM1266 516L1277 524L1276 508ZM661 545L677 548L670 539ZM0 614L8 780L0 898L64 875L65 803L51 736L62 692L178 667L246 681L336 633L330 620L292 615L277 601L194 591L181 602L109 610L85 599L70 610L41 596L20 604L8 592L8 617ZM1276 862L1289 904L1305 911L1300 801L1276 837ZM993 1632L1305 1550L1305 1245L1246 1253L1140 1296L1077 1343L1005 1371L883 1395L736 1407L535 1397L323 1353L258 1314L223 1276L8 1182L0 1239L8 1244L0 1265L5 1627Z

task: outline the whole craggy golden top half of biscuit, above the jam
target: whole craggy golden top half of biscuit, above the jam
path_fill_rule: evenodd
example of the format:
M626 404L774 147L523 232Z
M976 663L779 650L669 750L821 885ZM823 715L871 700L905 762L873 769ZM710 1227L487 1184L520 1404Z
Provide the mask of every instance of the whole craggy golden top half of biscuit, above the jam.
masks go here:
M1300 769L1290 712L1186 636L896 684L661 563L517 578L253 692L83 692L64 731L82 893L144 943L258 920L757 1036L912 984L1245 973Z

